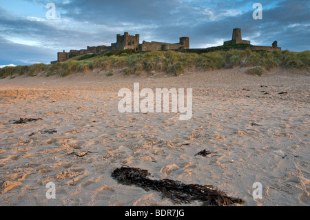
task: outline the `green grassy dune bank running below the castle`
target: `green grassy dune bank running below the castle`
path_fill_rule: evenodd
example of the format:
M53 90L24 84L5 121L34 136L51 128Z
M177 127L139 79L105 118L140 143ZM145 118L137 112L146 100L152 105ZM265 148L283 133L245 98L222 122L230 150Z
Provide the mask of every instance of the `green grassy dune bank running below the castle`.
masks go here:
M227 52L209 52L205 54L182 53L174 51L152 51L133 53L131 50L107 52L105 54L87 54L74 57L65 62L45 65L5 67L0 69L0 78L13 75L34 77L44 73L45 77L59 75L61 77L76 72L105 70L112 75L113 70L122 70L124 74L141 74L141 72L167 72L176 76L186 70L216 70L220 68L253 67L249 71L262 74L272 68L289 68L310 70L310 51L251 51L230 50Z

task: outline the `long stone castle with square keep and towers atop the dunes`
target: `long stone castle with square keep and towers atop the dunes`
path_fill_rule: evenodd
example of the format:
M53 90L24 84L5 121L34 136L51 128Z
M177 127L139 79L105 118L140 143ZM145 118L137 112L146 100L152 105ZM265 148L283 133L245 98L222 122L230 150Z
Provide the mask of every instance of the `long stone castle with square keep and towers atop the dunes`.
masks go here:
M277 41L272 43L272 46L253 46L250 44L250 41L242 40L241 29L235 28L231 37L231 41L225 41L223 46L211 47L211 48L202 48L202 49L189 49L189 37L180 37L178 43L163 43L163 42L147 42L143 41L140 43L140 35L129 35L128 32L124 32L124 35L116 35L116 43L111 43L111 46L96 46L90 47L87 46L86 50L70 50L70 52L58 52L57 60L52 61L51 63L58 63L66 61L76 56L85 55L85 54L101 54L104 52L110 52L113 50L134 50L135 52L142 51L152 51L152 50L177 50L180 52L213 52L216 50L281 50L278 48Z

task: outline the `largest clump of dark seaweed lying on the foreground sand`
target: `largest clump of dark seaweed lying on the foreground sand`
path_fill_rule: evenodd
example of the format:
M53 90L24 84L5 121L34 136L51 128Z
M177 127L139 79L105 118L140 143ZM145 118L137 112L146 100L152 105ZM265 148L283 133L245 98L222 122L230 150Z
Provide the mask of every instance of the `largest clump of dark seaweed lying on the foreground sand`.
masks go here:
M149 175L147 170L127 166L116 168L111 174L118 183L162 192L163 197L171 199L174 203L191 203L197 200L203 201L204 206L230 206L234 203L244 202L242 199L228 197L225 192L220 192L213 186L184 184L172 179L153 180L147 178Z

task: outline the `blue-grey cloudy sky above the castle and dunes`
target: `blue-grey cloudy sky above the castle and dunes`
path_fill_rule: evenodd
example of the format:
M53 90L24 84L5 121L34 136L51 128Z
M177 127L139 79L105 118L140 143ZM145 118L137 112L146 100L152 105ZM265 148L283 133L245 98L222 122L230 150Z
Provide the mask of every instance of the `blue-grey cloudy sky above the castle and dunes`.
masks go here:
M262 19L252 17L256 2ZM49 63L62 50L110 46L123 32L141 43L189 37L190 48L207 48L241 28L254 45L310 50L309 9L309 0L0 0L0 66Z

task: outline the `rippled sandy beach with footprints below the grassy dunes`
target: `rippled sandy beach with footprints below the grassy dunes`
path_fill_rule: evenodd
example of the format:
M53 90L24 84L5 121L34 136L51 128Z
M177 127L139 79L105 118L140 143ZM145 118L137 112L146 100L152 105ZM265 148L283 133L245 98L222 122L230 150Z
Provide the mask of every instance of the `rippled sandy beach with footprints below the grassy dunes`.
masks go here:
M0 206L178 206L117 183L111 173L122 165L154 179L216 186L244 199L242 206L310 205L309 74L258 77L236 68L180 77L9 78L0 80ZM118 90L135 82L193 88L192 119L118 112ZM20 117L43 120L9 123ZM195 156L204 149L216 153ZM56 199L45 197L48 182ZM255 182L262 199L252 197Z

